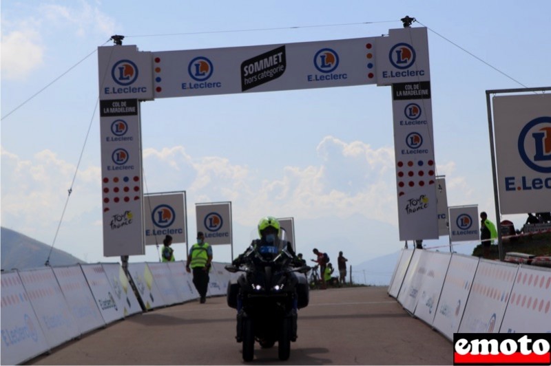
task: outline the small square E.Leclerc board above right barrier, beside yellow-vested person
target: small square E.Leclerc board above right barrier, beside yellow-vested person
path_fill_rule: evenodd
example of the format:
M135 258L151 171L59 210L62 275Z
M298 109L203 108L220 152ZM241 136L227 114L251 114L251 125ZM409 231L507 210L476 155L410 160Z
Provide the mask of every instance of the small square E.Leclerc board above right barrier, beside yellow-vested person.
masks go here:
M476 241L480 239L478 206L450 207L450 240Z

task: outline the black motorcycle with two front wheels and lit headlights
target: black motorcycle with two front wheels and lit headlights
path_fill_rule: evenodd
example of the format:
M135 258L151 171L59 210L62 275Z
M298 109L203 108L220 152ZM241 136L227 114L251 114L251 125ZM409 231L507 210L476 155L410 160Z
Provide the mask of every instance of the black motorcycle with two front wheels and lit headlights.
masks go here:
M227 303L238 310L236 340L242 343L247 362L253 360L255 341L262 348L278 342L278 357L287 360L291 342L297 339L297 310L309 302L306 273L311 268L295 259L281 231L274 246L257 246L253 241L238 263L225 267L243 272L230 281Z

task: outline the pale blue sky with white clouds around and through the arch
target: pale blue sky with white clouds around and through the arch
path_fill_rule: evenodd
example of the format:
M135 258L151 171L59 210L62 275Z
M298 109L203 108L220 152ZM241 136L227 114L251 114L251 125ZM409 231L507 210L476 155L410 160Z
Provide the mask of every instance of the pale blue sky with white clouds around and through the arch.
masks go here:
M1 226L85 261L103 257L97 47L141 51L382 36L428 28L437 175L448 206L496 222L486 90L551 85L540 1L2 1ZM141 103L145 192L232 203L233 255L260 217L293 217L297 250L355 266L399 241L391 89L365 85ZM72 189L68 196L67 191ZM68 199L67 199L68 197ZM63 219L62 219L63 217ZM519 228L526 217L504 215ZM61 222L61 224L60 224ZM449 250L448 237L427 240ZM477 243L455 246L470 254ZM176 259L185 245L174 244ZM230 246L214 248L229 261ZM158 261L148 246L130 261Z

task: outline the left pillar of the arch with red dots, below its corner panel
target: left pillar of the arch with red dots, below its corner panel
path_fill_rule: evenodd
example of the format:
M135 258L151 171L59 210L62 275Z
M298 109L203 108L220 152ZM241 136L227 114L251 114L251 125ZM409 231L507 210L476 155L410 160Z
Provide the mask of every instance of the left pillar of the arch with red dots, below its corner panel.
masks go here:
M125 108L119 107L120 105L125 105ZM139 109L136 99L101 101L101 189L105 257L145 254Z

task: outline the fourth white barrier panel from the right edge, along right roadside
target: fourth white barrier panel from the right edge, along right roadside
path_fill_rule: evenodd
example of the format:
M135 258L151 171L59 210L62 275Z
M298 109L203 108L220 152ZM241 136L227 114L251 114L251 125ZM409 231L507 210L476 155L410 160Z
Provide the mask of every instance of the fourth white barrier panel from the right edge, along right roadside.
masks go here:
M422 277L419 290L421 295L418 296L419 300L414 314L428 325L432 325L452 256L450 253L430 252L428 250L423 250L423 256L426 257L426 266L425 268L419 268L419 275Z

